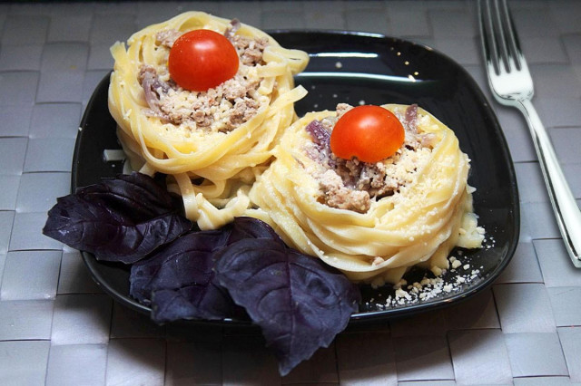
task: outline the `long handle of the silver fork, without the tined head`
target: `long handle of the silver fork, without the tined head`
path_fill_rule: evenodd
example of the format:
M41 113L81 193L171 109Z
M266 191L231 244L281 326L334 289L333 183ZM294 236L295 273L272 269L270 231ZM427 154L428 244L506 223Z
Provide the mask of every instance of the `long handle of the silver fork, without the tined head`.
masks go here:
M530 100L520 101L518 109L527 119L528 127L535 143L537 157L547 184L548 196L556 215L556 222L566 250L577 268L581 268L581 211L571 188L566 182L563 170L559 166L555 149L548 137L545 126L538 118L537 111Z

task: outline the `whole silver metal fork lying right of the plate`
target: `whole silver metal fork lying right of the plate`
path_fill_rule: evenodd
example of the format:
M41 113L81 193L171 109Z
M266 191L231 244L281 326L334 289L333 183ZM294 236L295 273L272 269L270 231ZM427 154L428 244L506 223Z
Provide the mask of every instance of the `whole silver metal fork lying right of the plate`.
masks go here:
M566 250L573 264L581 268L581 211L531 102L533 80L507 1L478 0L478 16L490 89L499 103L516 107L525 116Z

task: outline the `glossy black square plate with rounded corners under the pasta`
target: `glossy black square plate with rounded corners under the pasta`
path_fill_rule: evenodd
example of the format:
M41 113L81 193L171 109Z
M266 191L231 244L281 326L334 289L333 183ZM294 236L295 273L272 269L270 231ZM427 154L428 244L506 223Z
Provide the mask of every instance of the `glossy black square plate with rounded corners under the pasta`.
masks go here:
M350 324L453 304L490 285L507 266L517 246L517 179L497 118L468 72L425 45L379 34L279 31L271 35L282 46L310 53L308 68L296 77L297 84L309 91L296 104L300 116L313 110L334 110L338 102L418 103L454 130L460 148L472 160L468 183L478 188L474 206L479 224L486 228L487 239L494 240L486 248L463 254L471 266L478 268L479 274L459 291L443 292L428 301L378 311L376 304L393 294L393 289L386 286L375 290L362 285L364 302L359 313L351 316ZM113 177L123 168L121 162L103 159L103 150L120 149L115 122L107 108L108 85L107 76L97 86L84 112L74 151L73 191L103 177ZM126 266L98 262L88 253L83 256L104 291L135 310L151 311L129 297ZM448 273L444 279L453 275ZM248 321L230 319L212 323L250 325Z

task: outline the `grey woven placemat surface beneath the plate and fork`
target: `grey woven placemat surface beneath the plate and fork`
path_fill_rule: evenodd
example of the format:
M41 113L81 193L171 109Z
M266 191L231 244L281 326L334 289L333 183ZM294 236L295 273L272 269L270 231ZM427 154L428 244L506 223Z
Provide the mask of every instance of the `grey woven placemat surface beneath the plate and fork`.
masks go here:
M510 2L534 103L581 198L581 2ZM281 378L259 335L158 327L104 294L77 251L41 234L68 193L74 140L109 47L202 10L264 29L366 31L464 66L497 112L517 170L517 253L457 306L340 334ZM0 384L581 385L581 270L552 216L526 122L493 101L474 1L0 5Z

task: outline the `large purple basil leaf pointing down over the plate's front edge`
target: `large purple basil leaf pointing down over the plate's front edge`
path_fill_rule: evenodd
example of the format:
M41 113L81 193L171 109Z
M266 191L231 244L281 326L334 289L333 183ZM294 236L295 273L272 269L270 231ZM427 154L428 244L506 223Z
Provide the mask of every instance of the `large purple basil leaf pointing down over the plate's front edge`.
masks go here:
M261 327L281 375L328 347L358 309L345 275L276 240L242 239L217 255L216 277Z

